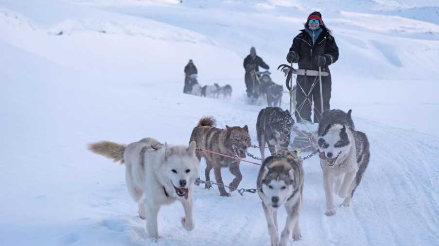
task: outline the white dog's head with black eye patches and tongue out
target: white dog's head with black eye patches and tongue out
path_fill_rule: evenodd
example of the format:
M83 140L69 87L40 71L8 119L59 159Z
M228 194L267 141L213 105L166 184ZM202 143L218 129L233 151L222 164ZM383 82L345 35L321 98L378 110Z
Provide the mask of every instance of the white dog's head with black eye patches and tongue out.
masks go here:
M332 167L337 160L349 152L352 143L351 129L346 125L334 124L326 126L323 134L318 137L320 158L326 160Z

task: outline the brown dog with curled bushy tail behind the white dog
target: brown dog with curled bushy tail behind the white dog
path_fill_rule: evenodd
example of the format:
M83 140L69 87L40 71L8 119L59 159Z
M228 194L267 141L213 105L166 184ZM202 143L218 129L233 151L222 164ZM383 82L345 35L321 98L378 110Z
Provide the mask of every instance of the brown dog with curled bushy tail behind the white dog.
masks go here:
M248 127L245 125L241 127L228 127L226 129L215 128L215 120L212 117L203 117L198 122L198 125L192 131L190 142L195 141L198 148L207 149L221 153L228 156L246 158L246 149L251 145L250 135L248 134ZM228 167L230 172L235 176L229 186L234 187L230 192L234 191L243 176L239 170L240 160L223 157L216 154L196 152L198 160L201 157L206 159L206 181L210 181L210 172L213 168L215 179L217 183L224 184L221 177L221 168ZM206 189L211 188L206 183ZM224 187L218 187L220 195L230 197Z

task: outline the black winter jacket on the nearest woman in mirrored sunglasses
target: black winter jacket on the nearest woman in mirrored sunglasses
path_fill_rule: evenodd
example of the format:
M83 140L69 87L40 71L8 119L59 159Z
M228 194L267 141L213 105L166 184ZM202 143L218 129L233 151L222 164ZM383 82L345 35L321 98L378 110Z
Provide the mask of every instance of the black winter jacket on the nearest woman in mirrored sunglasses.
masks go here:
M293 45L290 51L296 52L299 59L293 63L299 63L299 69L318 70L318 66L314 63L314 58L318 55L326 55L327 64L322 66L322 71L329 72L329 65L338 60L338 47L335 44L334 37L324 29L318 36L315 44L310 34L305 30L293 39ZM329 55L329 56L328 56Z

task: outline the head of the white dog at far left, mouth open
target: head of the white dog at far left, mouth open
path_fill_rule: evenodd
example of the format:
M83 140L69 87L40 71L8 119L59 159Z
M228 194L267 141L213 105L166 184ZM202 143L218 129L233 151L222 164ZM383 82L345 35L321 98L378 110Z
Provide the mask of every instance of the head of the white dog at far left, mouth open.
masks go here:
M189 147L168 146L165 143L164 159L158 171L158 179L167 192L177 198L188 198L193 182L198 178L198 159L195 142ZM190 189L191 188L191 189Z

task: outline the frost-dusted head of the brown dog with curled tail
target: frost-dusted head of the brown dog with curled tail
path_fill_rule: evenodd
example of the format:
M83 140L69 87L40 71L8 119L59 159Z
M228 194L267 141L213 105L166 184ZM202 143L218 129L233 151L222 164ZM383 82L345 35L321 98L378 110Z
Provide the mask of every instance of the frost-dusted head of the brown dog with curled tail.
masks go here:
M226 147L235 157L246 158L246 149L251 145L248 127L226 126Z

